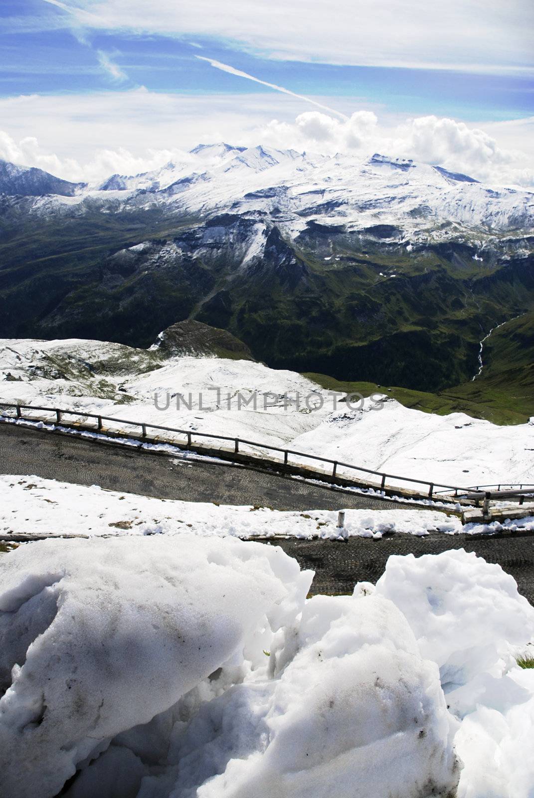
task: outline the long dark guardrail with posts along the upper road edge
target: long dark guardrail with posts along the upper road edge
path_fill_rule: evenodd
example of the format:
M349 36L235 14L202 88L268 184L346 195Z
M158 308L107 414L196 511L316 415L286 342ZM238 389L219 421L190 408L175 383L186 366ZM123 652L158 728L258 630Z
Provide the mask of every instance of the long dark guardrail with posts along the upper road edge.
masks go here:
M102 433L102 434L105 434L105 433L108 433L108 432L113 432L113 434L121 433L122 435L128 435L128 433L125 433L124 430L121 431L119 429L119 430L113 431L113 430L105 429L104 423L103 423L104 421L111 421L114 424L125 424L125 425L129 425L129 426L132 426L132 427L139 427L140 428L140 436L139 436L138 440L140 440L141 442L143 440L146 440L147 442L150 442L150 438L147 435L147 430L148 429L157 429L157 430L160 430L160 432L175 433L176 435L184 436L185 440L187 440L187 443L184 443L184 445L180 445L180 443L177 442L176 440L161 440L160 438L156 442L157 443L166 443L166 444L175 445L175 446L178 446L179 448L187 448L187 449L192 448L192 446L193 446L193 437L195 437L195 438L197 438L197 437L210 438L212 440L230 441L231 444L233 445L233 454L234 455L239 455L239 446L240 445L252 446L252 447L255 447L255 448L267 450L269 452L279 452L280 454L283 455L283 460L279 460L279 461L270 460L269 463L270 464L277 464L277 465L279 465L279 466L281 466L283 468L287 468L288 466L291 466L291 465L293 465L294 467L295 466L299 466L299 467L302 468L302 466L303 466L302 463L290 464L290 462L289 462L290 456L302 457L305 460L316 460L319 463L327 464L330 467L330 473L319 472L319 471L317 471L316 473L318 474L319 477L322 477L323 479L327 478L331 482L334 482L334 480L337 480L338 482L341 482L342 480L347 480L346 476L340 477L338 475L338 468L348 468L348 469L350 469L352 471L355 471L355 472L362 472L363 474L366 474L366 475L371 475L371 476L374 476L374 477L378 477L379 481L376 482L376 483L371 483L371 482L369 482L369 483L363 482L362 483L362 480L351 480L351 481L354 481L354 484L359 484L362 487L374 488L374 489L378 488L378 490L380 490L380 491L385 491L386 489L388 489L390 491L393 491L393 492L394 492L395 489L397 491L399 489L402 490L403 488L399 488L399 486L392 486L391 485L391 480L396 480L398 482L404 482L406 485L413 485L413 484L424 485L425 486L424 495L426 497L428 497L429 499L432 499L432 498L445 499L445 497L446 497L449 500L451 500L453 498L461 498L462 495L467 495L467 494L473 495L473 492L475 492L475 493L479 492L480 493L480 499L484 499L484 500L498 499L499 491L488 491L486 488L483 488L480 491L477 488L475 491L473 491L473 488L461 488L458 485L446 485L446 484L442 484L442 483L429 482L427 480L418 480L418 479L415 479L414 477L409 477L409 476L398 476L398 475L395 475L395 474L388 474L388 473L382 472L382 471L374 471L372 468L364 468L361 465L354 465L352 463L345 463L345 462L342 462L341 460L331 460L329 457L322 457L322 456L319 456L319 455L310 454L309 452L298 452L298 451L295 451L294 449L280 448L278 446L272 446L271 444L259 443L257 440L246 440L244 438L231 437L231 436L228 436L228 435L219 435L219 434L216 434L216 433L200 433L200 432L197 432L196 430L190 430L190 429L176 429L174 427L166 427L166 426L161 426L161 425L157 425L157 424L150 424L150 423L148 423L146 421L132 421L132 420L127 420L125 418L117 418L117 417L111 417L111 416L101 416L101 415L99 415L97 413L85 413L84 411L81 411L81 410L65 410L65 409L59 409L59 408L41 407L41 406L38 406L38 405L14 405L14 404L12 404L10 402L4 402L4 401L0 401L0 408L13 408L14 411L15 411L15 415L14 416L6 416L6 413L4 413L3 411L0 411L0 419L3 417L3 418L14 418L15 420L16 419L21 419L23 421L43 421L43 422L47 421L47 420L42 419L42 418L36 419L36 418L29 417L29 416L25 415L22 412L23 410L31 410L31 411L34 411L34 412L37 411L39 413L51 413L53 415L52 423L56 423L58 425L61 424L61 423L64 423L65 426L69 426L72 429L80 429L80 425L79 424L77 424L77 425L70 424L69 425L68 422L65 423L63 421L65 416L75 416L75 417L82 418L82 419L88 419L88 418L95 419L96 425L95 425L95 429L93 431L97 432L97 433ZM50 423L50 422L48 422L48 423ZM231 450L226 450L225 451L225 454L227 456L230 455L231 453L232 453ZM261 456L261 455L260 456L254 456L254 455L251 455L250 453L248 453L247 456L249 456L251 458L251 460L259 460L260 462L261 461L267 462L266 458ZM235 458L235 459L237 460L237 458ZM517 498L520 499L521 503L524 500L524 496L525 496L524 488L532 487L532 494L534 495L534 485L532 485L532 486L525 485L524 486L522 484L520 487L518 487L518 486L514 486L514 487L516 488L516 491L514 492L512 490L512 493L517 495ZM440 488L440 490L437 490L437 488ZM443 490L443 488L445 488L445 490ZM405 490L405 492L407 492L409 490L409 488L404 488L404 490ZM510 496L510 493L511 492L509 490L507 490L508 497ZM422 495L423 495L423 492L421 492L421 496Z

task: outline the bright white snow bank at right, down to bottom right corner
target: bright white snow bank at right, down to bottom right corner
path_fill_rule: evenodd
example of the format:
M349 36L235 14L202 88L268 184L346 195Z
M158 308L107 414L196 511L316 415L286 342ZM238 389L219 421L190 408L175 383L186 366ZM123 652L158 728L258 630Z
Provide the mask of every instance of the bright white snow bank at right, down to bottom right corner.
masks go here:
M515 667L534 607L498 565L465 551L392 556L376 590L405 615L440 667L464 762L458 798L534 796L534 670Z

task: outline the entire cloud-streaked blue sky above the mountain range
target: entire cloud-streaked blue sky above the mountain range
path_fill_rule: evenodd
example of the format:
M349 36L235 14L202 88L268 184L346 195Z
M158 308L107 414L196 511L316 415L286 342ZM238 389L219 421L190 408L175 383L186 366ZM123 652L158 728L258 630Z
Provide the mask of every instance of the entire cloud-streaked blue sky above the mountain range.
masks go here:
M415 147L395 125L429 116L523 147L534 117L530 16L526 0L2 0L0 157L57 161L66 173L104 147L139 159L143 147L247 144L263 132L288 146L401 135ZM332 109L330 122L295 123L314 109L306 97ZM363 112L376 120L358 118L356 135L334 124ZM464 128L444 129L446 146L423 142L427 160L446 160L447 147L471 152L475 168L477 158L509 160L481 135L473 143Z

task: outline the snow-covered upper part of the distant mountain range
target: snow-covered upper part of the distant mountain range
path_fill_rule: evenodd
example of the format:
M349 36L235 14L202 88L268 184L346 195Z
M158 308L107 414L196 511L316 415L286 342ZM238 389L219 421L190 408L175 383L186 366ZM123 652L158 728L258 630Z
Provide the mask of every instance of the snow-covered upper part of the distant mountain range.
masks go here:
M55 182L54 182L55 181ZM28 210L81 213L163 207L171 215L221 212L275 219L287 235L310 222L379 238L450 239L463 232L501 235L534 227L534 193L492 188L472 177L412 160L311 155L262 146L200 144L180 163L99 184L69 184L38 169L0 163L0 192L33 195Z

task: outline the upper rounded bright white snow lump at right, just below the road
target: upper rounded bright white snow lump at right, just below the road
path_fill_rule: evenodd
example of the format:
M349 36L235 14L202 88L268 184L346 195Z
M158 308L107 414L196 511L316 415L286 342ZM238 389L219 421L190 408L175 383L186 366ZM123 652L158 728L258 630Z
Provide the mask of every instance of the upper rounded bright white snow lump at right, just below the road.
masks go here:
M469 702L484 692L487 677L515 662L512 646L534 635L534 609L515 579L463 549L391 556L376 589L405 615L421 653L440 667L449 703L462 713L474 709Z

